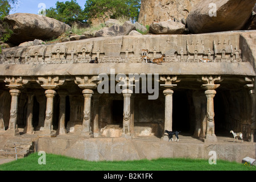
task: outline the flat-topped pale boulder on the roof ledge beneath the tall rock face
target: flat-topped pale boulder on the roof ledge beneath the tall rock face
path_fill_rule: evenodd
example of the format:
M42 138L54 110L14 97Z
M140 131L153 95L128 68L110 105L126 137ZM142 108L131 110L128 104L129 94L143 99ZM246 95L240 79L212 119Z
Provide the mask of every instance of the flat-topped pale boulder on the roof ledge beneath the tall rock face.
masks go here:
M153 34L184 34L185 30L185 25L180 22L155 22L150 25L150 33Z

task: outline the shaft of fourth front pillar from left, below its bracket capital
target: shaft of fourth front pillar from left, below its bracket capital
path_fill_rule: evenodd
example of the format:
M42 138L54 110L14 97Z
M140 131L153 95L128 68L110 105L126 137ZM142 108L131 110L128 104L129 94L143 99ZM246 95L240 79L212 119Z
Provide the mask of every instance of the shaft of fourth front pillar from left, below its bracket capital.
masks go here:
M123 133L122 137L131 136L131 94L130 89L125 89L123 93Z

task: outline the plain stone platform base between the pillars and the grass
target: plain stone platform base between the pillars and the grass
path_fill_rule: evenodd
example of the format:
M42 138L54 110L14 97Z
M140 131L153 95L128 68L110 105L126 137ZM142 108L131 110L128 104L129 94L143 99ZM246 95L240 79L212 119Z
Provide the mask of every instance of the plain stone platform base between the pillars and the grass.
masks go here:
M1 135L0 148L7 138ZM179 142L166 142L157 137L132 138L82 138L75 134L57 137L38 137L38 134L23 134L15 138L30 138L35 141L35 151L71 156L90 161L139 160L157 158L209 159L209 152L216 151L217 159L236 161L249 156L256 157L256 143L233 142L231 137L218 137L218 142L204 143L191 135L180 134Z

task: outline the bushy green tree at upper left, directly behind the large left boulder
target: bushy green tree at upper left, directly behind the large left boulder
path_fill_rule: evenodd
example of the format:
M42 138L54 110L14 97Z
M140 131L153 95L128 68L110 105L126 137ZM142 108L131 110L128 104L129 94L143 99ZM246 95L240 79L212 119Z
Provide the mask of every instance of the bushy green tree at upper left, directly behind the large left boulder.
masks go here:
M72 22L83 22L85 20L82 8L76 0L71 0L70 2L57 1L56 8L50 7L49 9L46 9L46 16L49 18L55 18L69 25L71 25Z

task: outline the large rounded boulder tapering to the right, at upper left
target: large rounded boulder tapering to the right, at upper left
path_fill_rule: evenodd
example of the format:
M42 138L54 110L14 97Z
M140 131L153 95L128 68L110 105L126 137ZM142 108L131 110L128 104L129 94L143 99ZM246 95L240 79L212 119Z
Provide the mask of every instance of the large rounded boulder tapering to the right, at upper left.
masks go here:
M9 42L20 44L35 39L48 40L57 38L63 32L71 29L65 23L56 19L28 13L15 13L5 17L10 28L14 31Z

